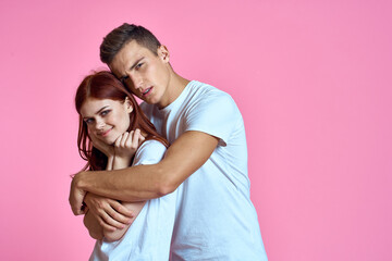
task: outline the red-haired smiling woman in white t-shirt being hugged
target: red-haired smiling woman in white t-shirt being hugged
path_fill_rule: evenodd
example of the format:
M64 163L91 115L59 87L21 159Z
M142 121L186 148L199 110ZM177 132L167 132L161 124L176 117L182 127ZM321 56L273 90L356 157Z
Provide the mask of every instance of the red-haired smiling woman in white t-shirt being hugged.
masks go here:
M115 170L155 164L163 158L168 141L110 72L87 76L76 91L75 105L79 114L78 150L87 161L85 169ZM134 214L131 226L103 225L105 217L96 217L88 209L97 198L90 194L85 198L84 223L97 239L90 260L169 260L175 192L147 202L121 202ZM113 208L119 204L114 199L108 202Z

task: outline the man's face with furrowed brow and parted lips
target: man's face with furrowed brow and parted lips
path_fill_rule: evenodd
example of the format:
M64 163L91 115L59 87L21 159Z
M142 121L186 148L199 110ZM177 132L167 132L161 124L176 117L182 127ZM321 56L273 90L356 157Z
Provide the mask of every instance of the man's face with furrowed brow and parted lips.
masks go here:
M170 104L169 52L164 46L158 48L156 55L135 40L130 41L114 57L109 67L142 100L159 108Z

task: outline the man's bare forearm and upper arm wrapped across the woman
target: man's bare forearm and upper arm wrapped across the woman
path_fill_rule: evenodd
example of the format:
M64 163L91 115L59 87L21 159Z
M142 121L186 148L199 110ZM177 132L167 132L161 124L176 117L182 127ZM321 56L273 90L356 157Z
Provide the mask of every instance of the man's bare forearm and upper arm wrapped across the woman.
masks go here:
M124 170L81 172L71 184L70 203L75 214L87 191L123 201L140 201L174 191L212 154L219 139L201 132L186 132L168 149L162 161Z

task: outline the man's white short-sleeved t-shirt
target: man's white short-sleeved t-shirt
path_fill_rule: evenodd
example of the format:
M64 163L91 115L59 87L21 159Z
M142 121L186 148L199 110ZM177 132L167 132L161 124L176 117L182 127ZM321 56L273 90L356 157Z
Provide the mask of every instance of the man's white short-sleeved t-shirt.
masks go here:
M177 189L171 260L267 260L249 198L244 122L233 99L193 80L168 107L144 102L142 109L170 144L188 130L219 138Z

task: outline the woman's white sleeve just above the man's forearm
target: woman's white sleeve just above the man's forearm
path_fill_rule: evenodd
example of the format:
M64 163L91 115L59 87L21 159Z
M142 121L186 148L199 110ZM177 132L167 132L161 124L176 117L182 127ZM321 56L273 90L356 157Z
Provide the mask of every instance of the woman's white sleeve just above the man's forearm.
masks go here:
M146 140L136 151L132 165L156 164L163 159L166 150L164 145L158 140Z

